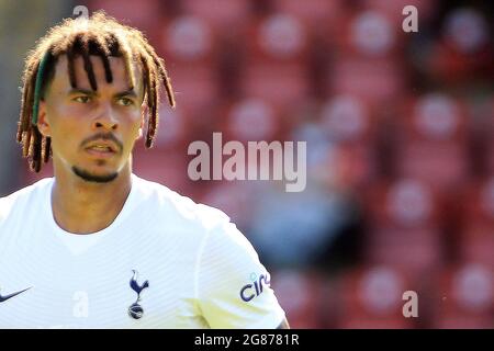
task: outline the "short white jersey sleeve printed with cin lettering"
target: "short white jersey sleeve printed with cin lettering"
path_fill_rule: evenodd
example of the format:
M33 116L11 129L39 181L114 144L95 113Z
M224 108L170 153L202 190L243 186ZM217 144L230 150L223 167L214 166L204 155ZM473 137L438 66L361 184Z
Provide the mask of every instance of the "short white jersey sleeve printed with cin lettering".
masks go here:
M247 238L227 220L204 238L198 259L197 303L211 328L277 328L284 312L270 274Z

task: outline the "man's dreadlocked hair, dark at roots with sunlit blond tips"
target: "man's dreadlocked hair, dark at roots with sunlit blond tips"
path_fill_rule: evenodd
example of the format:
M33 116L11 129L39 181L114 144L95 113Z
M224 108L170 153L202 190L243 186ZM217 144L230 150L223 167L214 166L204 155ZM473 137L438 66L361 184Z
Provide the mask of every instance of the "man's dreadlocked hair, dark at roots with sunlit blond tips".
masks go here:
M158 105L161 86L168 103L175 107L175 95L165 61L156 54L143 33L123 25L115 19L98 11L89 19L66 19L52 27L42 37L25 60L22 88L22 103L16 134L22 145L22 155L29 159L30 168L40 172L52 154L50 138L37 128L40 100L44 99L46 87L55 76L55 66L60 55L67 56L70 86L77 88L74 61L82 57L83 68L91 89L98 90L90 55L102 60L106 82L113 81L109 57L122 57L125 61L127 83L135 87L132 63L141 66L143 72L144 101L147 107L146 148L153 146L158 128Z

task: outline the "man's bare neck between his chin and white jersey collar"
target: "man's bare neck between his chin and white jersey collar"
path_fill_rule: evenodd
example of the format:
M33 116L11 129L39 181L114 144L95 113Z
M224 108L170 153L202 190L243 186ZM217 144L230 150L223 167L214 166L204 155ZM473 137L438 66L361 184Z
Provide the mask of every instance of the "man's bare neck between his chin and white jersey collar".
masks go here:
M109 183L87 182L71 172L57 172L52 190L55 222L72 234L92 234L110 226L131 192L131 167Z

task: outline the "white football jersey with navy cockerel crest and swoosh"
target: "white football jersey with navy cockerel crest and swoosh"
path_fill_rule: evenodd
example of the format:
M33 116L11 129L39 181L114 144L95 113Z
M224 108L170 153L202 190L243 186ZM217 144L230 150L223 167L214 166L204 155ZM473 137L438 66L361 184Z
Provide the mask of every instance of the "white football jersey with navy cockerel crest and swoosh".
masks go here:
M221 211L132 176L115 220L63 230L54 178L0 199L0 328L276 328L250 242Z

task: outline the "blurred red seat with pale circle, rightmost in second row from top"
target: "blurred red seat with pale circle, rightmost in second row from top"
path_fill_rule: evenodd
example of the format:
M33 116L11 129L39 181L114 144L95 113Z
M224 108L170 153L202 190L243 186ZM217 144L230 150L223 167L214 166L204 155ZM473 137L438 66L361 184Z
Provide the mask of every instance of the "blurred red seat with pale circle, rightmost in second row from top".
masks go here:
M464 182L470 165L467 115L461 103L430 94L415 100L403 113L403 120L397 120L397 174L419 179L439 191Z

